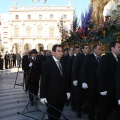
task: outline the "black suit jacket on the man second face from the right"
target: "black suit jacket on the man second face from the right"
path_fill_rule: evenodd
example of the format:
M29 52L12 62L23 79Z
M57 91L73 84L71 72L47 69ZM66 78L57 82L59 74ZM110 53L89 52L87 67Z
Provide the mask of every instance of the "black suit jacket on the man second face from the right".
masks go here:
M81 68L82 83L87 83L88 88L97 87L97 70L98 62L94 54L86 55Z

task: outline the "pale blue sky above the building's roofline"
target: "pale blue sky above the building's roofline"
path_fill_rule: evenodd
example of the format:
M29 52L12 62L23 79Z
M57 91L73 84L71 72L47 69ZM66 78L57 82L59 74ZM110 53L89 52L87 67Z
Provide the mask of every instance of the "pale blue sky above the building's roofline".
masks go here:
M0 14L8 13L9 9L13 6L14 0L0 0ZM49 5L67 5L67 0L47 0L46 6ZM85 11L87 6L89 5L90 0L73 0L73 6L75 6L76 14L78 18L81 15L81 11ZM34 0L34 4L32 0L18 0L18 6L43 6L44 0Z

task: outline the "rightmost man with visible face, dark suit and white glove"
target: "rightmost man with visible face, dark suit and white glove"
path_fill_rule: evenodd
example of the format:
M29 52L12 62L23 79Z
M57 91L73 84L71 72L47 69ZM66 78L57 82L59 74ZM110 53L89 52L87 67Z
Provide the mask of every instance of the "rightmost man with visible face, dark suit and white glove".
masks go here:
M106 120L116 106L115 98L115 72L120 54L120 42L110 43L110 53L101 57L98 69L99 113L98 120Z

